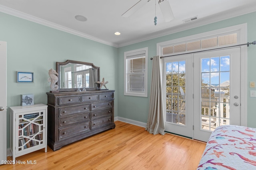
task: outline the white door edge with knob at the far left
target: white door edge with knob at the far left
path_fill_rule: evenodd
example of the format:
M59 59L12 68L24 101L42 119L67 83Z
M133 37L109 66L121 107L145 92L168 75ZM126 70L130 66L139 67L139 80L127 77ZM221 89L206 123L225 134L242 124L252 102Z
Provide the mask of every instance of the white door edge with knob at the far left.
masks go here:
M6 143L7 143L7 137L6 137L6 42L0 41L0 77L1 77L1 83L0 83L0 160L7 160L6 157ZM0 164L3 162L1 161Z

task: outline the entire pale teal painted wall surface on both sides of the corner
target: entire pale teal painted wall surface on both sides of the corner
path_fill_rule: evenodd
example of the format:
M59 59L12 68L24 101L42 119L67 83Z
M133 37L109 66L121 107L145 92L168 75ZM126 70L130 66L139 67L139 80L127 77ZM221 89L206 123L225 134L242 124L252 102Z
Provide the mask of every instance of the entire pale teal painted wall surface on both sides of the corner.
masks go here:
M70 33L0 12L0 41L7 42L7 106L20 105L20 94L34 94L35 104L47 103L50 91L48 70L66 60L94 63L100 67L100 78L109 81L115 92L115 116L147 122L152 61L148 60L148 98L124 96L124 52L148 47L148 57L156 55L156 43L247 23L248 42L256 40L256 12L211 23L171 35L115 48ZM154 26L154 25L153 25ZM256 46L248 48L248 82L256 81ZM34 72L34 83L16 83L16 71ZM249 84L249 83L248 83ZM256 98L250 98L248 86L248 126L256 127ZM7 134L9 148L9 109Z

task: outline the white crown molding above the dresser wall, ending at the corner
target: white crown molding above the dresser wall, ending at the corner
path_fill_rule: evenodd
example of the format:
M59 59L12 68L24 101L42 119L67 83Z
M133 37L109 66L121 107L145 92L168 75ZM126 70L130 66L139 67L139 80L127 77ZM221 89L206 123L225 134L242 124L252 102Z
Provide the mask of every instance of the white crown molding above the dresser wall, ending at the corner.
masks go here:
M31 16L29 14L26 14L24 12L20 12L20 11L8 8L6 6L0 5L0 12L6 13L6 14L10 14L12 16L16 16L18 18L29 20L29 21L32 21L32 22L35 22L35 23L39 23L39 24L42 24L42 25L45 25L45 26L48 26L48 27L51 27L51 28L54 28L54 29L58 29L60 31L71 33L71 34L77 35L79 37L90 39L92 41L96 41L96 42L103 43L103 44L106 44L106 45L110 45L110 46L113 46L113 47L118 47L118 45L115 44L115 43L110 43L108 41L104 41L104 40L99 39L97 37L93 37L91 35L88 35L88 34L85 34L85 33L81 33L81 32L76 31L74 29L70 29L70 28L64 27L62 25L58 25L56 23L52 23L50 21L46 21L46 20L43 20L41 18L37 18L35 16Z

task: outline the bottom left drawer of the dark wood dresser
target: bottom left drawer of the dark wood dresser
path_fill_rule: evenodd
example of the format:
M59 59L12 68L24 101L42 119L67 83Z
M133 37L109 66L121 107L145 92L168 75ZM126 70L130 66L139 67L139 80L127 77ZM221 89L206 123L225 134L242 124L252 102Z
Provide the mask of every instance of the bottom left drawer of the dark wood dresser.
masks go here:
M65 127L59 130L59 137L61 139L65 139L71 136L78 135L79 133L89 131L90 130L90 122L81 123L78 125Z

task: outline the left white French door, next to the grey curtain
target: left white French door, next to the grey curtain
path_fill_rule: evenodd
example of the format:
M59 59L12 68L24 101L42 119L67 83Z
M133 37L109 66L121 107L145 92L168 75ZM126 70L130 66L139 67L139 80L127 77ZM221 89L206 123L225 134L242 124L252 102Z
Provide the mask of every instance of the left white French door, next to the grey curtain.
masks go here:
M192 138L193 135L193 55L164 59L163 88L166 131Z

